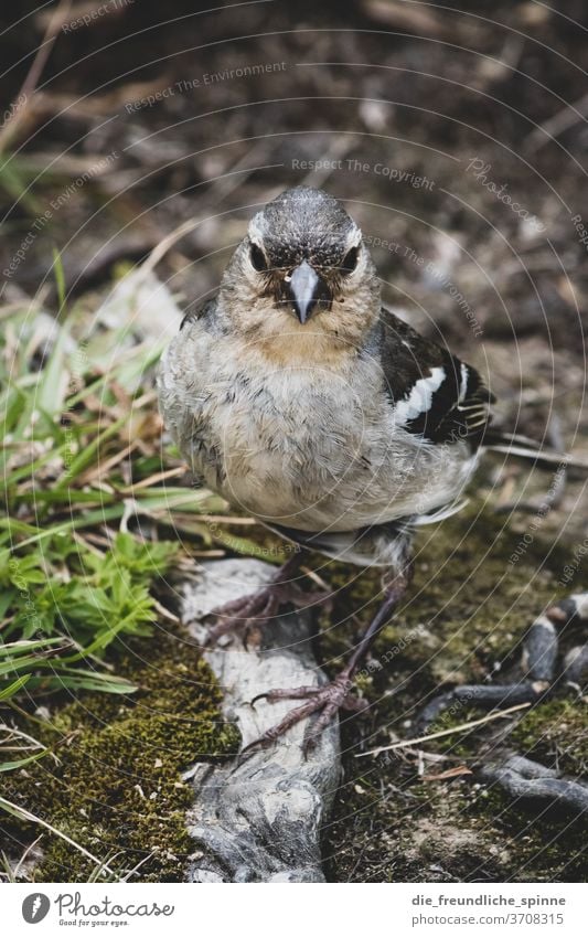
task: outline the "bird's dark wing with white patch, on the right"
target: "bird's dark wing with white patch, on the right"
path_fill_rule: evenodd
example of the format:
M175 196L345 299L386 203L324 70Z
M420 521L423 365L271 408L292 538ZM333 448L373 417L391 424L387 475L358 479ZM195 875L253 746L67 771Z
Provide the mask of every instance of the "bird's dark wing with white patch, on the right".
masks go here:
M430 443L466 439L477 449L494 401L480 374L385 308L381 322L382 365L397 425Z

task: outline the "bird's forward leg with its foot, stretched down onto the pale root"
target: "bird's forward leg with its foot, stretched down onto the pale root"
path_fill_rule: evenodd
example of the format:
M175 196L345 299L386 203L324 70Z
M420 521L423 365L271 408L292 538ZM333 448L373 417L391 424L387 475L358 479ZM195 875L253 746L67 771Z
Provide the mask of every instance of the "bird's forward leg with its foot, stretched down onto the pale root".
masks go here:
M282 718L277 725L271 726L259 738L247 745L242 754L242 757L249 754L256 748L267 748L276 739L284 735L292 725L308 716L319 713L314 725L307 734L304 741L304 755L308 755L318 744L319 737L330 721L336 716L339 710L348 712L361 712L365 710L367 703L353 696L351 690L353 688L353 679L357 672L357 668L363 658L367 653L372 642L377 633L387 624L393 610L398 605L404 596L410 579L410 567L407 572L398 574L389 584L385 586L385 598L379 606L376 615L372 619L370 627L357 647L346 667L341 673L329 681L323 686L298 686L291 690L270 690L267 693L260 693L252 700L252 705L255 705L257 700L267 700L269 703L276 700L303 700L301 705L296 706L288 715Z

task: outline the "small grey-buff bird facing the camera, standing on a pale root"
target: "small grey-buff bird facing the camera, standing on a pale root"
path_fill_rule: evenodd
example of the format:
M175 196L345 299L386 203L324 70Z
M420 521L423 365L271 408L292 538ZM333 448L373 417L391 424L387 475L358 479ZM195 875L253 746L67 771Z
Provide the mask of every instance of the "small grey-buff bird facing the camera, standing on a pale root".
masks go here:
M341 672L264 694L297 705L250 749L313 716L308 753L339 710L361 711L354 678L409 586L415 532L463 507L485 448L538 457L533 440L492 429L478 371L381 294L343 204L288 189L252 217L217 292L189 309L161 359L163 422L195 477L292 545L266 586L216 609L214 640L319 600L296 582L307 551L382 569L379 608Z

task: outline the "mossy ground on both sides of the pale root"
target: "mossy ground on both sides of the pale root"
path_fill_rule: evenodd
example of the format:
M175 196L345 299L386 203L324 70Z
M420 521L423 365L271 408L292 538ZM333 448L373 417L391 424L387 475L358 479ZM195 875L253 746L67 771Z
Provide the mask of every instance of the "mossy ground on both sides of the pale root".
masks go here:
M253 536L267 547L265 533ZM558 584L568 551L536 537L512 563L518 542L520 534L490 511L464 512L419 535L409 596L378 637L360 681L371 707L343 724L345 778L324 837L329 880L588 880L584 831L569 816L514 805L472 776L438 777L501 745L581 776L585 700L562 691L523 714L458 728L411 750L354 757L362 743L410 738L416 713L438 692L516 675L526 629L569 592ZM338 589L319 640L323 666L335 673L376 607L379 575L320 557L313 566ZM563 652L580 639L577 626L566 629ZM181 633L136 640L117 654L117 672L135 681L138 693L88 694L52 706L53 727L35 726L34 734L46 744L68 741L56 749L58 764L44 758L11 779L14 799L117 870L148 856L133 881L181 881L191 852L184 821L191 790L181 771L195 759L234 752L237 733L222 722L213 675ZM429 731L481 715L458 709ZM420 775L418 749L426 753ZM19 842L39 834L17 820L3 826ZM39 882L83 881L93 873L89 861L49 833L42 849Z

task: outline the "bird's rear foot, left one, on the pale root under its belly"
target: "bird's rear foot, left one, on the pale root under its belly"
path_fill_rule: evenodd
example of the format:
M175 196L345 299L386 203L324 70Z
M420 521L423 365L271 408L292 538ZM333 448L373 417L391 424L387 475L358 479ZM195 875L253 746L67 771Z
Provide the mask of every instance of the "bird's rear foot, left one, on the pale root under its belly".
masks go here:
M281 605L291 604L297 608L327 601L330 596L323 592L303 592L295 576L303 560L303 551L298 550L274 574L268 583L252 595L227 601L214 609L217 619L207 635L206 643L213 645L229 631L243 631L244 643L254 627L259 627L274 618Z

